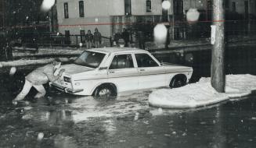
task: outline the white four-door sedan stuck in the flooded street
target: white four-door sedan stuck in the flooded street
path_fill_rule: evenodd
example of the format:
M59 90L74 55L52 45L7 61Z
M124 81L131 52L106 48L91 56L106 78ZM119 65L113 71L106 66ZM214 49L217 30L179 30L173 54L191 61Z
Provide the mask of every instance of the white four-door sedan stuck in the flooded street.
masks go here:
M85 50L73 64L63 65L60 79L50 85L66 93L117 96L129 90L161 86L171 88L189 82L193 69L160 63L148 51L137 48Z

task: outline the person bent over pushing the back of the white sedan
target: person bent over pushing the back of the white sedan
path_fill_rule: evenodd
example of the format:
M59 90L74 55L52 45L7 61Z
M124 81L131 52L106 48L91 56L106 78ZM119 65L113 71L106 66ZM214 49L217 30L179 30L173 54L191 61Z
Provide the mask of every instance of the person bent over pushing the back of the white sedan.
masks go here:
M32 86L38 90L38 93L34 96L34 98L44 97L46 91L43 84L54 82L59 79L60 76L62 76L64 69L59 70L60 65L60 62L54 61L51 64L35 69L29 73L25 77L23 90L21 90L21 92L13 100L13 104L18 100L23 100L27 96L27 93L30 92Z

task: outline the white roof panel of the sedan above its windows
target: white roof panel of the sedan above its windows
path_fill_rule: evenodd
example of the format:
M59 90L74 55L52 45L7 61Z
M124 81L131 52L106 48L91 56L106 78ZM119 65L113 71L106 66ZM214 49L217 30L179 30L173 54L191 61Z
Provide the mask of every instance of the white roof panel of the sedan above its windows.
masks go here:
M92 48L89 49L88 51L99 51L99 52L104 52L106 54L108 53L126 53L126 52L147 52L145 50L142 49L138 49L138 48Z

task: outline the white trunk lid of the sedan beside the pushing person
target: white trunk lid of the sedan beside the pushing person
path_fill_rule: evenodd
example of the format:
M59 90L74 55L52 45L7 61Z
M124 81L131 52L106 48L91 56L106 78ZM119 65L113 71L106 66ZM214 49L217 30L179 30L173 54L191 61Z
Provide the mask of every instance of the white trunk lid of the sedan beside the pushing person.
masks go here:
M82 65L76 65L76 64L62 65L60 69L65 69L65 73L70 75L94 70L92 68L88 68L88 67L85 67Z

